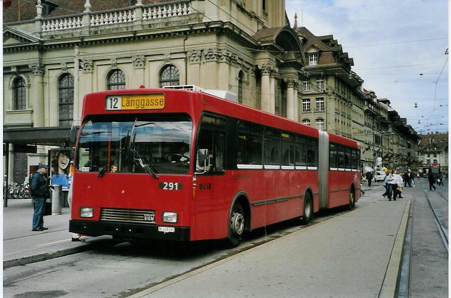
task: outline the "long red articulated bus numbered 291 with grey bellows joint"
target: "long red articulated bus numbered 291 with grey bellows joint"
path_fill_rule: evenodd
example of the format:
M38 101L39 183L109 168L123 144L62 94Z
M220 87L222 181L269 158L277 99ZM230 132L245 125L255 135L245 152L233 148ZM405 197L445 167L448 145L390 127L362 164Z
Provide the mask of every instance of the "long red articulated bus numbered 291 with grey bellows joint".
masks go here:
M236 246L245 230L354 207L356 141L206 92L84 96L70 232Z

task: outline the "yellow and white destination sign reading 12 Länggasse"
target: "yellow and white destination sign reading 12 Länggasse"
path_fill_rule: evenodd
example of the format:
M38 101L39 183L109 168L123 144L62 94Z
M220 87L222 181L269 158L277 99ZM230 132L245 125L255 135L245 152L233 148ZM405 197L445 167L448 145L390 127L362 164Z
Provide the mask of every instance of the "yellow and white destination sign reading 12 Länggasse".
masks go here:
M107 110L161 110L166 105L163 93L108 95L105 98Z

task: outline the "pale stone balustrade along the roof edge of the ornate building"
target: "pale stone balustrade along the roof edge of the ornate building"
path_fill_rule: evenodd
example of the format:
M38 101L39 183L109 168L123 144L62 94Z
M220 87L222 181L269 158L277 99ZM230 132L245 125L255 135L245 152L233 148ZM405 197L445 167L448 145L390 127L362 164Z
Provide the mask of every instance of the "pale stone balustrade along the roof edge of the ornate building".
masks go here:
M90 12L86 23L83 22L83 17L85 14L62 18L43 19L41 31L52 32L82 28L84 26L98 27L132 23L138 20L137 10L141 10L141 21L187 16L195 11L191 7L191 2L180 1L169 4L163 3L159 5L135 7L117 11Z

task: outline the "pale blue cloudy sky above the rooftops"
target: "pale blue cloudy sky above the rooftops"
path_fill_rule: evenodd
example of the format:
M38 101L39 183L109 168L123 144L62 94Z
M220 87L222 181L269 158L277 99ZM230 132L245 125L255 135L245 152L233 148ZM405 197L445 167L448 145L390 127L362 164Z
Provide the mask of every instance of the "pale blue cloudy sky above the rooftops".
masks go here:
M286 0L293 27L332 34L363 87L388 98L420 134L448 131L446 0ZM422 75L421 75L422 74ZM417 103L417 108L415 108ZM420 122L420 123L419 123Z

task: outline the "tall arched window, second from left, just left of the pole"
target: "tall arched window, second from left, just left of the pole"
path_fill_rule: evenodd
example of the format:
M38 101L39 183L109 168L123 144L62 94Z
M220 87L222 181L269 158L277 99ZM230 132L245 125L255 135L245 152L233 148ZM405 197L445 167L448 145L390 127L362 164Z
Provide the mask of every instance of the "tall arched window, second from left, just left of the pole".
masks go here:
M70 126L74 118L74 77L64 74L58 83L60 126Z

